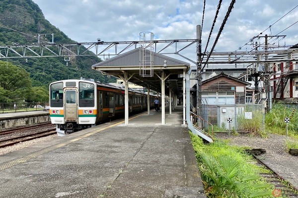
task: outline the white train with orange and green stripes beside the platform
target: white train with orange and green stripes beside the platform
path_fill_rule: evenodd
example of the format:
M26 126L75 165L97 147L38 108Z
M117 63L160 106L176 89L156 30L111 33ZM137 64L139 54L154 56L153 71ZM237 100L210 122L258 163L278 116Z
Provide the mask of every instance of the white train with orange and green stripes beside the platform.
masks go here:
M125 90L94 80L62 80L50 84L50 117L64 136L124 116ZM154 107L150 95L150 108ZM129 91L129 112L147 110L147 93Z

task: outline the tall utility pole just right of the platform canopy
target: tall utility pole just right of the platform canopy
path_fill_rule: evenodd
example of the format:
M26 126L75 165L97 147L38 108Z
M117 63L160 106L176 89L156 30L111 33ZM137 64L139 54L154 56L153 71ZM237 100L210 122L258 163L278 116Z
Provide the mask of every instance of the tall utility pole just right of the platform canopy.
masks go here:
M201 25L197 25L197 115L202 118L202 41ZM201 119L198 120L198 127L202 128Z

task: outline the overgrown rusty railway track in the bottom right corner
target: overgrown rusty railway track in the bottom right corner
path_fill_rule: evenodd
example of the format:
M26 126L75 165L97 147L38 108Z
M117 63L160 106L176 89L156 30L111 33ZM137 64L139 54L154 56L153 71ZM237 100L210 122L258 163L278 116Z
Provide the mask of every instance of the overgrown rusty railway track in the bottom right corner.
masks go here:
M261 174L261 176L275 186L275 190L272 193L274 197L298 198L298 189L294 185L272 170L257 156L258 154L255 154L253 151L250 151L249 153L257 160L256 165L262 166L270 171L269 173Z

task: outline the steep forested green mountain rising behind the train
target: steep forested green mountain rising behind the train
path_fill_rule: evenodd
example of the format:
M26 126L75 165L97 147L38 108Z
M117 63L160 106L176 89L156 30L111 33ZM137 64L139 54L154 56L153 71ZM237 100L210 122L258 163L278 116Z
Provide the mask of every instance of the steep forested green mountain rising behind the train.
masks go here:
M14 43L37 43L38 34L54 33L55 43L76 43L45 19L39 6L32 0L1 0L0 3L0 46ZM49 42L52 38L45 37ZM45 52L46 53L46 52ZM89 54L93 52L89 51ZM101 59L94 56L75 56L70 61L64 57L8 58L9 61L30 73L33 86L48 86L51 82L64 79L92 78L100 82L115 82L91 65Z

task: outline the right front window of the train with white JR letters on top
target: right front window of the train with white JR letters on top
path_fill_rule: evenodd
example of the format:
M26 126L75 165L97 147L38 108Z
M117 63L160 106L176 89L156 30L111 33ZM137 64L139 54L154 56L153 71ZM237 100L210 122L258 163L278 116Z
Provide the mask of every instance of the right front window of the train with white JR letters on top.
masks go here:
M94 107L94 85L79 82L79 104L80 107Z

